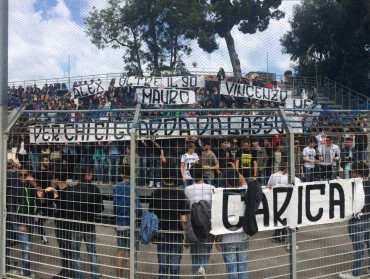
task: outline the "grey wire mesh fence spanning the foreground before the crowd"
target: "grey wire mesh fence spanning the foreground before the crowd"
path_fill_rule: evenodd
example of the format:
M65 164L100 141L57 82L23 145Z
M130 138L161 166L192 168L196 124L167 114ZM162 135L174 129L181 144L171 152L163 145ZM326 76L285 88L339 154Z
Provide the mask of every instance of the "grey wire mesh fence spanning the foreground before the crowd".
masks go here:
M55 117L54 112L60 115ZM48 117L48 113L52 116ZM342 208L343 216L339 205L331 208L329 204L330 199L340 199L337 194L330 196L330 189L344 189L346 195L352 195L345 190L345 186L352 185L348 182L351 180L342 179L350 170L347 156L338 162L337 168L328 168L321 164L326 162L325 156L320 158L325 152L317 151L308 174L302 151L314 139L314 149L325 150L326 144L335 144L340 151L346 152L347 140L352 139L356 152L353 149L351 157L368 162L367 110L322 114L322 111L282 107L163 110L143 109L138 105L104 110L103 114L97 110L81 110L73 122L66 121L76 116L74 113L76 111L72 110L46 113L25 110L7 132L10 150L7 204L1 205L2 210L7 210L6 218L2 219L7 225L7 245L1 248L6 255L6 270L1 275L13 278L29 270L36 278L52 278L58 273L60 278L77 278L79 272L86 278L117 278L117 265L123 265L118 268L121 270L118 275L124 278L157 278L162 272L176 273L180 260L180 278L192 278L193 272L202 272L199 266L204 267L206 278L226 278L235 270L226 267L225 259L237 263L240 275L246 274L243 264L247 261L249 278L337 278L339 273L351 269L353 249L347 220L351 217L349 212L355 197L351 196L340 205L346 208ZM30 114L33 117L30 118ZM40 118L43 121L38 121ZM327 143L324 137L332 142ZM246 145L244 151L243 144ZM209 149L216 160L209 155ZM193 156L195 153L198 159ZM341 158L341 155L334 154L334 157ZM188 168L195 161L206 170L205 183L216 186L211 194L215 235L230 232L226 225L234 229L240 226L238 220L242 219L239 217L244 215L242 189L236 190L236 194L233 192L234 196L228 197L229 203L225 206L222 196L227 193L223 190L225 179L228 181L232 177L223 174L229 175L229 170L236 166L247 181L256 176L263 186L266 198L256 215L259 232L249 237L248 245L244 245L247 242L242 234L236 238L239 240L231 241L242 247L240 260L232 257L235 254L232 250L227 250L232 245L222 242L233 237L211 237L208 246L203 244L204 251L195 248L198 244L183 247L181 220L185 221L181 218L189 213L186 197L192 202L199 194L186 188L186 183L190 185L192 179L188 177ZM272 190L266 187L270 176L279 171L281 161L287 164L286 179L293 185L292 192L279 190L287 187L277 186ZM22 176L25 171L20 165L28 164L28 176ZM130 166L129 174L127 169L125 172L125 168L121 168L123 165ZM124 176L120 175L122 172ZM94 176L88 178L92 179L88 184L91 188L82 190L80 185L87 179L86 174ZM169 178L170 186L164 176ZM294 176L304 182L303 186ZM24 177L27 178L25 183L32 182L27 184L29 189L39 190L32 190L35 195L42 189L44 196L26 198ZM126 186L130 182L132 187L117 187L122 178ZM337 180L329 183L333 178ZM53 195L55 189L58 197ZM68 194L64 189L68 189ZM210 195L205 191L201 193L207 199ZM99 196L103 198L102 212L97 209ZM290 206L294 199L296 203ZM139 241L142 212L138 210L138 201L143 210L154 210L160 217L159 231L149 245ZM282 207L285 211L280 212ZM223 211L223 208L226 209ZM95 219L91 217L94 215ZM28 230L19 238L21 224ZM32 238L25 239L24 235ZM120 236L119 244L127 247L121 247L119 253L117 235ZM222 251L216 249L220 239ZM177 245L166 246L169 242ZM24 252L25 247L29 247L29 254ZM200 260L194 256L197 251L209 255L208 264L193 264ZM168 263L169 256L171 263ZM117 261L119 258L126 260ZM368 260L367 254L365 258ZM63 267L66 271L60 274Z

